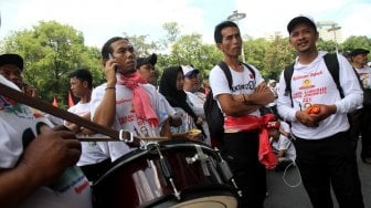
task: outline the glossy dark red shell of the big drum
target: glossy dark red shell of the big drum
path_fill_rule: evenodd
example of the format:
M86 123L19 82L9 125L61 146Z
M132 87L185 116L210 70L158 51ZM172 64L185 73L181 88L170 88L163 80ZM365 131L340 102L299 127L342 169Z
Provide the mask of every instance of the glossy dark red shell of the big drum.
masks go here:
M216 173L205 173L200 160L189 163L202 149L211 165L220 162L218 153L197 142L161 142L159 148L167 159L180 199L163 175L160 156L155 146L136 149L117 159L113 167L93 185L94 206L156 207L197 197L226 195L236 197L235 190ZM210 170L210 169L209 169ZM237 198L237 197L236 197ZM171 201L171 202L169 202Z

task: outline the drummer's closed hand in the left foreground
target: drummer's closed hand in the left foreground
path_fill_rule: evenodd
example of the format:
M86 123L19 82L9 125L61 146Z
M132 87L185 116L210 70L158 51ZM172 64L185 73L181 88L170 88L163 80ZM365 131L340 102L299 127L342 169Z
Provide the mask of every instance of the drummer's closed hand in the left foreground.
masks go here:
M46 186L74 166L81 156L81 144L72 132L46 132L25 148L19 166L35 185Z

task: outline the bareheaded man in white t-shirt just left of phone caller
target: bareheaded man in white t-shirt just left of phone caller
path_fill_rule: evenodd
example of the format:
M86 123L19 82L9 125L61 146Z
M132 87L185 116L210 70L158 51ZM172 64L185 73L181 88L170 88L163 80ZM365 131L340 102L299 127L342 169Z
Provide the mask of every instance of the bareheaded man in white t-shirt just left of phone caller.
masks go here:
M71 106L67 111L80 115L86 119L91 119L91 95L93 90L93 76L86 69L75 70L70 75L70 85L72 94L78 97L76 105ZM80 137L94 134L92 131L64 122L64 125L75 132ZM89 181L97 180L110 167L110 159L106 155L106 143L103 142L84 142L82 143L82 156L77 166L82 168Z

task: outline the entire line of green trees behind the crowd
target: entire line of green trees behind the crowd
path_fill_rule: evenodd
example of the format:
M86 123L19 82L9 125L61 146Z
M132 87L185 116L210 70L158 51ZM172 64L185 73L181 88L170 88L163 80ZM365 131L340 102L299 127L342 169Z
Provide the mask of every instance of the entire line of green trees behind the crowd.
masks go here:
M150 53L158 54L157 75L163 67L173 64L193 64L201 71L201 76L208 79L210 70L222 59L222 53L214 44L202 41L198 33L181 35L177 22L162 25L166 38L159 41L148 41L148 35L128 35L137 51L137 56ZM244 37L244 54L246 62L255 65L265 80L278 79L282 70L294 62L295 51L288 44L287 38L274 41ZM335 52L333 41L319 40L319 50ZM371 48L368 37L350 37L339 44L339 51L351 51L356 48ZM39 22L31 30L13 32L3 39L0 45L2 53L13 52L23 56L24 79L34 85L42 97L52 101L54 95L64 105L67 101L71 71L87 67L92 71L94 83L105 81L100 53L97 48L84 45L83 33L70 25L55 21Z

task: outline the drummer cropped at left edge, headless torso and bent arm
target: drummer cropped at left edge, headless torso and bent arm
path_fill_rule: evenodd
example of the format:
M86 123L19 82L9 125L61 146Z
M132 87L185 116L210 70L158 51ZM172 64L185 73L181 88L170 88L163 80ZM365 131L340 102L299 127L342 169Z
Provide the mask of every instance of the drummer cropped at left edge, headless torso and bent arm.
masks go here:
M0 75L0 83L19 90ZM2 208L89 208L75 134L52 131L41 113L0 95L0 205Z

